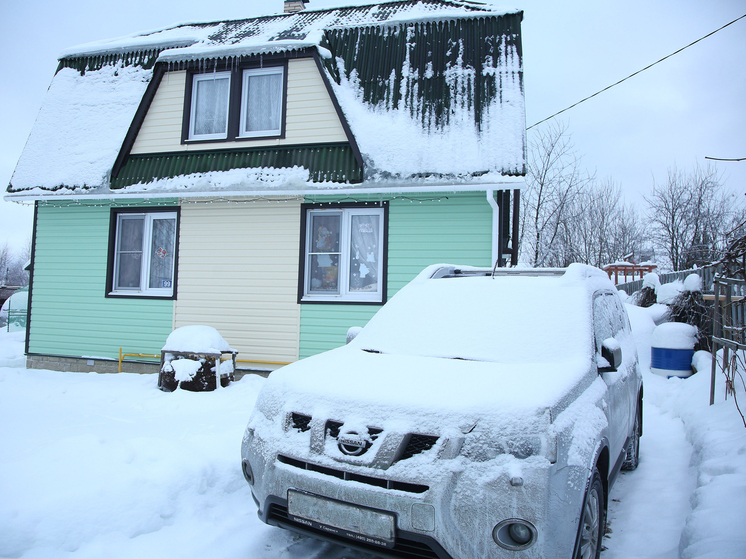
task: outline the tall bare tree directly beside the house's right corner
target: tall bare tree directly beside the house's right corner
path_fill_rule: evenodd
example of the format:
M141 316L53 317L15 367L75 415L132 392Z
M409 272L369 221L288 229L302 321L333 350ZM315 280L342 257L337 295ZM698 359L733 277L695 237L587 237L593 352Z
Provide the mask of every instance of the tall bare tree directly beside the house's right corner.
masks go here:
M526 189L521 194L522 260L534 266L562 265L567 259L561 239L578 211L577 197L592 176L580 158L566 124L551 124L529 142Z

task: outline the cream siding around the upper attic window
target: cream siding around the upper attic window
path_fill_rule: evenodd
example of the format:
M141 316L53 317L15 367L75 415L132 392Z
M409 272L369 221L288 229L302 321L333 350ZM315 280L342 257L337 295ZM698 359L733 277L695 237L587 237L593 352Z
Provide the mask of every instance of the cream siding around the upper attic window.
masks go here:
M300 58L288 61L288 99L284 139L182 144L181 125L184 114L186 76L187 73L184 70L167 72L163 76L131 153L347 141L347 136L319 75L316 63L312 58Z

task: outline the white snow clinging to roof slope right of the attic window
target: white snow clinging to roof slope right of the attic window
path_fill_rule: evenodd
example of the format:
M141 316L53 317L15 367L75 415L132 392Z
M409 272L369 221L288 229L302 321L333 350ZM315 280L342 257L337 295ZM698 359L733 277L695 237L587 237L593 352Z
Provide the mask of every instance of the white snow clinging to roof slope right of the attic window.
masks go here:
M408 47L416 40L407 32ZM411 46L410 46L411 45ZM463 49L463 43L460 44ZM401 101L378 103L365 101L366 88L355 69L346 72L337 58L341 83L330 80L337 100L353 130L355 140L366 159L368 178L410 177L418 174L468 176L478 172L508 171L520 173L524 164L526 117L521 61L515 48L505 47L503 59L485 61L483 73L498 75L500 95L485 99L488 105L476 115L475 74L480 69L465 64L461 56L445 71L451 98L447 124L432 124L417 98L428 76L410 67L409 54L404 60L402 77L392 72L387 86L400 91ZM398 85L398 87L397 87ZM410 101L410 99L413 99ZM424 121L424 122L423 122Z

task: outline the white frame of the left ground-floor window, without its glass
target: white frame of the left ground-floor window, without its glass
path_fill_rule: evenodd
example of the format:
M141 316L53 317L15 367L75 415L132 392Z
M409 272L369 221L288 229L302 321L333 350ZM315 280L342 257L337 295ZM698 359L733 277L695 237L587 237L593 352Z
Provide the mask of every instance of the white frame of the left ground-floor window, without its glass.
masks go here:
M119 263L120 263L120 251L119 251L119 240L122 231L122 221L125 219L132 218L144 218L143 223L143 238L142 247L140 254L142 255L143 264L140 267L140 285L138 287L120 287L119 281ZM171 286L170 287L149 287L150 278L150 264L151 264L151 249L153 239L153 221L158 219L173 219L176 227L174 228L174 239L173 239L173 251L174 258L171 265ZM111 278L111 295L137 295L147 297L172 297L174 293L174 280L176 273L176 243L178 231L178 216L177 212L120 212L117 214L116 223L116 234L114 236L114 265L112 267L112 278Z

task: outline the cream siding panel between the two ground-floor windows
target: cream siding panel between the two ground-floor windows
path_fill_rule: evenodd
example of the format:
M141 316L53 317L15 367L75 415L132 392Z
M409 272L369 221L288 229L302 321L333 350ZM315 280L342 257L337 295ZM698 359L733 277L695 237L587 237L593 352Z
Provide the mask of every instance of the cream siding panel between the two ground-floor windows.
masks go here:
M299 204L183 204L174 328L213 326L239 360L297 360Z

